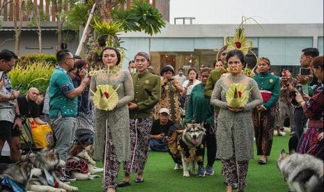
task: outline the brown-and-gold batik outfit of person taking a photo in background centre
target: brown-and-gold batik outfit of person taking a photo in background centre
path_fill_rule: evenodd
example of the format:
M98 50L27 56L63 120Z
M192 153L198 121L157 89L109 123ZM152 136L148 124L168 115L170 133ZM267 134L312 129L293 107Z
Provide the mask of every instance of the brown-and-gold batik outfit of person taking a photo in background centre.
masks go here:
M155 120L159 118L160 109L167 108L170 111L169 119L173 120L173 122L180 122L181 112L178 90L173 86L173 83L168 81L166 85L163 85L162 81L163 79L161 79L161 99L155 106L154 118ZM176 81L176 84L180 86L178 79L174 79L173 81Z

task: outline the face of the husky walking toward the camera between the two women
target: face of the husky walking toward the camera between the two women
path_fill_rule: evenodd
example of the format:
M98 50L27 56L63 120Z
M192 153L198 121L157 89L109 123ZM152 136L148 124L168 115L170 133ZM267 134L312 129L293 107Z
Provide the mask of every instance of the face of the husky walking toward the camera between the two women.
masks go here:
M185 124L183 131L183 141L190 147L197 147L203 141L206 129L202 124L188 123Z

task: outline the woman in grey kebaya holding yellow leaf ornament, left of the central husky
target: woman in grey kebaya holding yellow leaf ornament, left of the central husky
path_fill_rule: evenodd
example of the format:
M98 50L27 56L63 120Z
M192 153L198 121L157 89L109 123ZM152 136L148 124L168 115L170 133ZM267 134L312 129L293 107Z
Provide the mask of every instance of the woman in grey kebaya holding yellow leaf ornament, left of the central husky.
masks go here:
M95 109L95 154L94 159L104 163L103 185L107 191L116 191L119 165L130 158L130 115L128 103L134 99L132 77L128 70L121 70L121 54L112 47L106 47L100 54L105 71L100 70L91 77L90 99L98 86L111 85L118 88L118 103L107 111ZM112 97L102 93L102 97Z

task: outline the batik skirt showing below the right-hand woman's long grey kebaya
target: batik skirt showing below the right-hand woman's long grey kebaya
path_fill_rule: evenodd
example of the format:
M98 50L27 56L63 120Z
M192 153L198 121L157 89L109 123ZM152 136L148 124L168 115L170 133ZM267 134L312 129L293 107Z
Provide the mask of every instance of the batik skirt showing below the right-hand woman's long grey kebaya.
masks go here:
M231 159L222 159L222 163L226 184L231 186L238 184L238 190L244 190L246 187L245 180L247 178L249 161L236 161L232 157Z

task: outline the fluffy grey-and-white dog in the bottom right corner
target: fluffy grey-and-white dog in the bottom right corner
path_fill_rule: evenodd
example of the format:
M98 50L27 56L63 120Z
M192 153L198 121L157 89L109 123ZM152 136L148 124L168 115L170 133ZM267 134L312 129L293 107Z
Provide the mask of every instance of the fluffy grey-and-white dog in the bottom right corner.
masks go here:
M289 188L298 192L323 191L323 160L309 154L281 151L277 160Z

